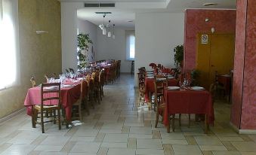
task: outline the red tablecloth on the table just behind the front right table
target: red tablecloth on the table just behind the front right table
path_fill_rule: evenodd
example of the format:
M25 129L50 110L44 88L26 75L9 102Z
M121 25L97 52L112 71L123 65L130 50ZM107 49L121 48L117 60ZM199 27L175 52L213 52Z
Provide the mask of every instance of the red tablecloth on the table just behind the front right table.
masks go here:
M176 79L169 79L168 86L177 86ZM155 92L154 88L154 79L153 78L146 78L145 79L145 102L150 102L150 93Z

